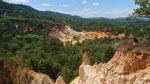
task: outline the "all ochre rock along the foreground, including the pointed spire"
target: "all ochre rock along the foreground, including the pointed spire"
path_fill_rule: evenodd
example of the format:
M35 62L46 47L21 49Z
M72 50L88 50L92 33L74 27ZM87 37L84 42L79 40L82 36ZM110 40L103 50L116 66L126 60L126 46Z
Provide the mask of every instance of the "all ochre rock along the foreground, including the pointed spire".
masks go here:
M7 72L3 65L0 59L0 71L4 72L0 75L6 75ZM15 70L13 83L66 84L61 76L55 82L46 74L21 67ZM85 53L79 68L79 76L70 84L150 84L150 53L117 49L108 63L93 66L90 65L89 57Z

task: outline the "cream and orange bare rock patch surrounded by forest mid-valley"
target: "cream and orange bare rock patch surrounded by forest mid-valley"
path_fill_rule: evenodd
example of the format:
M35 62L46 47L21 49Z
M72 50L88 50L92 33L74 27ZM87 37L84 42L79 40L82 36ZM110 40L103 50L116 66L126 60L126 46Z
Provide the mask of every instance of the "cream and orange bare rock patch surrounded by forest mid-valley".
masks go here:
M60 29L61 28L61 29ZM75 44L77 42L83 42L84 40L94 40L94 39L101 39L101 38L124 38L125 34L119 34L118 36L109 35L109 33L105 32L77 32L73 30L70 26L64 26L55 28L54 30L48 33L49 36L55 37L60 39L62 42L72 42Z

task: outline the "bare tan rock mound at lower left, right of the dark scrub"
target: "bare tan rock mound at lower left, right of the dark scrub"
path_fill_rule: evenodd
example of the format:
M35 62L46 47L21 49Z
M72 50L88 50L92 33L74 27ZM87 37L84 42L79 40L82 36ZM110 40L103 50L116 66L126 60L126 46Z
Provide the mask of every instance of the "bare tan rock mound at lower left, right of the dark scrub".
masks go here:
M13 78L14 84L54 84L46 74L18 67Z

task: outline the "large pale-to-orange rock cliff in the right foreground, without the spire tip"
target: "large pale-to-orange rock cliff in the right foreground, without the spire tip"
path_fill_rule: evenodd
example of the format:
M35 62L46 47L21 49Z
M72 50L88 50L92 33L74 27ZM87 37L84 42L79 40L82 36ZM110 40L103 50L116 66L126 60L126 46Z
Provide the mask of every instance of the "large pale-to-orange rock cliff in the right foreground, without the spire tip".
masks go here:
M150 84L150 54L118 49L106 64L83 62L70 84Z

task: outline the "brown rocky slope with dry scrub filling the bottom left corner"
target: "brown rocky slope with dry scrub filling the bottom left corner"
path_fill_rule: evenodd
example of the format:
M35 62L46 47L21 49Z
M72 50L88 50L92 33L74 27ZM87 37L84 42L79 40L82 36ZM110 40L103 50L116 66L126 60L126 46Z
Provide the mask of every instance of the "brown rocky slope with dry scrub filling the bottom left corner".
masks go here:
M16 67L0 58L0 84L54 84L48 75Z

